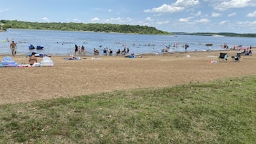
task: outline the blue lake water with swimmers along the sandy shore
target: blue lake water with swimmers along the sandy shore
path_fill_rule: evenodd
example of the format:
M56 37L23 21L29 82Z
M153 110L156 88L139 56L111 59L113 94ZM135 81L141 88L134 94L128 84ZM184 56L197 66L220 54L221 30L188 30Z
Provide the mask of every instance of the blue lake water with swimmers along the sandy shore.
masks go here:
M224 43L230 47L242 45L244 47L256 46L256 38L247 37L213 37L194 35L151 35L151 34L115 34L100 32L67 32L54 30L8 29L0 32L0 54L11 54L10 42L3 42L6 38L17 43L17 54L31 52L69 55L74 54L75 44L85 47L85 55L93 55L93 48L103 54L103 49L123 50L124 45L130 53L147 54L158 53L166 46L171 52L184 52L184 44L189 44L188 52L205 51L209 49L205 44L211 43L212 50L221 50ZM29 50L29 45L44 46L42 50ZM177 47L173 47L176 44Z

